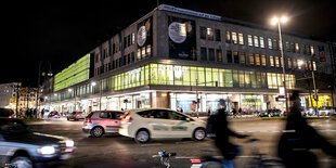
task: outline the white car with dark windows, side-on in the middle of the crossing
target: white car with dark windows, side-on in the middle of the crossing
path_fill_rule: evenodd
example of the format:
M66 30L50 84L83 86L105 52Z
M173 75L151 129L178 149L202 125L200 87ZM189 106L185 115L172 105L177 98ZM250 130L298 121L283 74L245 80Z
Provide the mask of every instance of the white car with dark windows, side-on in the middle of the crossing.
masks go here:
M128 111L119 128L119 134L145 143L150 139L193 138L202 141L206 137L206 124L182 113L167 108Z

